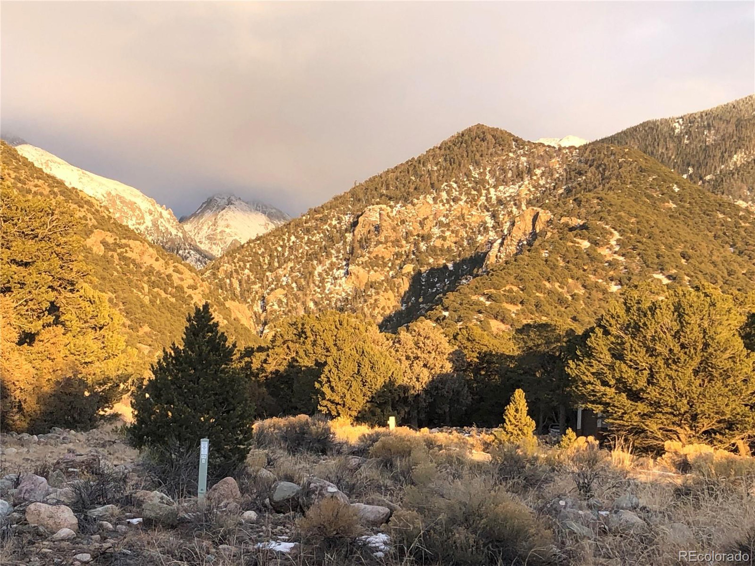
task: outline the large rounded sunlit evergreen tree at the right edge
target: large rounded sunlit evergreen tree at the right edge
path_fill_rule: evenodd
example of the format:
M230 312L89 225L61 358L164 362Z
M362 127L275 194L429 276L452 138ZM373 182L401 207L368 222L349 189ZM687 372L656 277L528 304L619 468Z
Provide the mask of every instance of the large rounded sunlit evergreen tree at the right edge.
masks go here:
M755 355L744 316L714 288L643 286L609 306L568 371L575 394L638 446L755 438Z

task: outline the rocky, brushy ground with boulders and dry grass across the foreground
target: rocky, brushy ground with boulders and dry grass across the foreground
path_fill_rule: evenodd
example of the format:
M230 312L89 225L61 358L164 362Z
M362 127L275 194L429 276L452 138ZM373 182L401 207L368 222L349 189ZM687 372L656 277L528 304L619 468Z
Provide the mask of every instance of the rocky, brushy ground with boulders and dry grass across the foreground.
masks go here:
M2 434L0 562L664 566L683 563L680 549L752 560L752 458L522 454L474 430L323 435L297 418L258 425L246 469L202 505L156 478L118 426Z

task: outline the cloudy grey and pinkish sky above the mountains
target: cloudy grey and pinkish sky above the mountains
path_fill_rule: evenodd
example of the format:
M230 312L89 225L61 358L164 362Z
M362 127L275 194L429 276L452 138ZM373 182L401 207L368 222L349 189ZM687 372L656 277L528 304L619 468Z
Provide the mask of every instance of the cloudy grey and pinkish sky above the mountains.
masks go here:
M597 139L755 92L753 2L3 2L0 128L178 215L300 214L470 125Z

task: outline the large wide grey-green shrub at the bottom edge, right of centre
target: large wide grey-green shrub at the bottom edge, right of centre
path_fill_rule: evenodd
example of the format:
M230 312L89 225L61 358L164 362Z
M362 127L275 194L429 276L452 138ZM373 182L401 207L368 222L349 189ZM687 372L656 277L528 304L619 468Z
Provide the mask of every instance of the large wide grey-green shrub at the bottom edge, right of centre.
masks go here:
M550 534L532 511L481 478L406 490L390 521L399 552L437 564L540 564Z

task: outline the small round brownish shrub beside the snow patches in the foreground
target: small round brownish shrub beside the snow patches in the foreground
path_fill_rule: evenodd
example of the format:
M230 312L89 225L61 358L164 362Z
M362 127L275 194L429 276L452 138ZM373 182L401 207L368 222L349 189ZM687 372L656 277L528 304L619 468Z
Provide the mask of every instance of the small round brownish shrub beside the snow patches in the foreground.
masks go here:
M304 543L328 554L349 549L363 532L357 512L334 497L315 503L296 525Z

